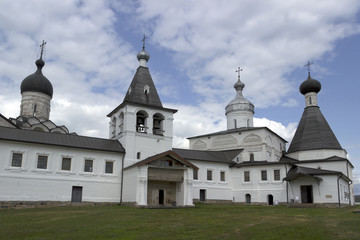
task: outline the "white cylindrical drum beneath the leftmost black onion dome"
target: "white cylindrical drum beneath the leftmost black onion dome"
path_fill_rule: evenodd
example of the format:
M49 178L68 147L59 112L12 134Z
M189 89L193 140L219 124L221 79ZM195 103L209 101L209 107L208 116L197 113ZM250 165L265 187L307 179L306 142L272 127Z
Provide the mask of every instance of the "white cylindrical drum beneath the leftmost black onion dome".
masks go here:
M20 105L20 116L45 118L50 117L51 97L39 92L23 92ZM36 111L35 110L36 105Z

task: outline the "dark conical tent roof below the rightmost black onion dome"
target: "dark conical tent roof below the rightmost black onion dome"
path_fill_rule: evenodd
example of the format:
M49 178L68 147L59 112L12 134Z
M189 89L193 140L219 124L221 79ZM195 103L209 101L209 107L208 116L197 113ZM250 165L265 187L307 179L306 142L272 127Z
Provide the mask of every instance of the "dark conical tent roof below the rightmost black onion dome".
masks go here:
M304 109L287 153L315 149L342 149L342 147L319 107L310 106Z

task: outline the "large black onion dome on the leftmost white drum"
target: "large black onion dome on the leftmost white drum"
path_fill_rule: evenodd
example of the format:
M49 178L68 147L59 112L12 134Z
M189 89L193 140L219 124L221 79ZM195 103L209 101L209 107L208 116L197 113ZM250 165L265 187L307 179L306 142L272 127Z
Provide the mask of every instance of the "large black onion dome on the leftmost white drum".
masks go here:
M40 92L50 97L53 95L53 87L51 82L42 74L41 69L45 62L40 58L35 62L37 66L36 72L27 76L21 83L20 90L23 92Z

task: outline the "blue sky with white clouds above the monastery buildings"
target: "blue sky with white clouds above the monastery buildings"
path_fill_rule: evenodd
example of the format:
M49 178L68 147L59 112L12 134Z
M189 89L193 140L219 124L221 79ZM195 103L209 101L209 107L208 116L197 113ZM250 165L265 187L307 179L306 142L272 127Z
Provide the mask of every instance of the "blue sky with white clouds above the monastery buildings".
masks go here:
M163 106L174 116L174 147L186 137L226 129L241 67L254 125L289 143L305 106L299 85L322 84L318 104L348 152L360 184L360 1L0 1L0 113L17 117L20 84L43 74L54 95L50 119L71 132L108 137L106 115L124 98L139 65L147 66ZM359 190L360 192L360 190Z

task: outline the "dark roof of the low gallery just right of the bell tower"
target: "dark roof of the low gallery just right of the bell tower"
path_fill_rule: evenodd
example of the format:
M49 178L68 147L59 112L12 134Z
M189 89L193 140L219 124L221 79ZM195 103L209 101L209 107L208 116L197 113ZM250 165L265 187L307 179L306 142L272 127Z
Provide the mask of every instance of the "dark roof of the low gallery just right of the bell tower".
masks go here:
M208 162L231 163L243 149L225 150L225 151L201 151L191 149L173 148L173 151L182 158L188 160L199 160Z

